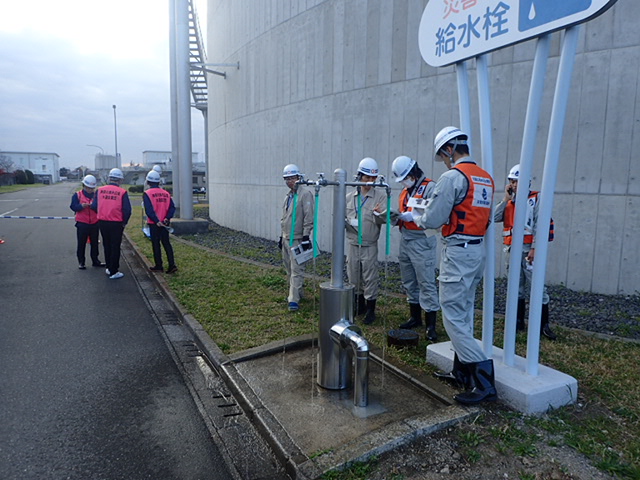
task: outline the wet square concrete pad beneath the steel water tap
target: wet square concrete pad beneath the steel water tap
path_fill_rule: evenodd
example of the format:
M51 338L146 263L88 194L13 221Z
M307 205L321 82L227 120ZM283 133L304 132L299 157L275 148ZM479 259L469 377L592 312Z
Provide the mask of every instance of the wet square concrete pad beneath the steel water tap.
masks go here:
M402 376L375 355L369 362L369 404L356 407L352 388L327 390L317 384L317 345L279 343L277 351L267 348L264 356L254 350L245 358L234 355L223 368L229 378L240 377L236 388L250 390L244 401L272 445L285 451L294 478L317 478L366 460L475 411L452 404L450 397Z

